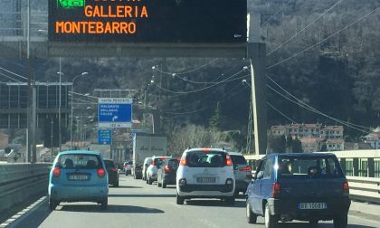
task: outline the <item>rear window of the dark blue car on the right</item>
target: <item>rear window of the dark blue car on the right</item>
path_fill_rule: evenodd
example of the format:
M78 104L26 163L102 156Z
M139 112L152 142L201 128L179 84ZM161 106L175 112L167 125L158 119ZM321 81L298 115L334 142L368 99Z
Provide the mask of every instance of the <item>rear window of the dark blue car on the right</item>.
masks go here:
M343 173L333 157L280 157L280 178L337 178Z

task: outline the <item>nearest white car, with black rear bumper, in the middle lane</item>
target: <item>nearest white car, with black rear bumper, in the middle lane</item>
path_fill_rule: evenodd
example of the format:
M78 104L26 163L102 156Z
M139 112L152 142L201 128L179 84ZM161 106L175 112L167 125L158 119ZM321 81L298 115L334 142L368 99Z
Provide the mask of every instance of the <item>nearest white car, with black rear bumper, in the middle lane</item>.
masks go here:
M186 149L176 172L176 204L191 198L235 202L233 161L223 149Z

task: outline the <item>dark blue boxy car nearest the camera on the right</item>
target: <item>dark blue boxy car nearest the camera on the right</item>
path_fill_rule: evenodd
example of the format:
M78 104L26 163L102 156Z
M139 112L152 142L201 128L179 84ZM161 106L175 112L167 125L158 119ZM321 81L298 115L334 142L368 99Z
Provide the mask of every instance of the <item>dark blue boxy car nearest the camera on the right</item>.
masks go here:
M247 221L264 216L265 227L278 222L333 220L347 227L351 204L346 176L337 157L327 153L269 154L247 187Z

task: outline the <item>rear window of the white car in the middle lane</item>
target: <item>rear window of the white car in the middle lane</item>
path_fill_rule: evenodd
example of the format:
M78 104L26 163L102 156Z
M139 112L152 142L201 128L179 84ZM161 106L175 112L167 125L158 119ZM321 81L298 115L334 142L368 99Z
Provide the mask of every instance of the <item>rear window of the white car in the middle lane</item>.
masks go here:
M186 161L189 167L223 167L225 165L225 153L193 151L187 153Z

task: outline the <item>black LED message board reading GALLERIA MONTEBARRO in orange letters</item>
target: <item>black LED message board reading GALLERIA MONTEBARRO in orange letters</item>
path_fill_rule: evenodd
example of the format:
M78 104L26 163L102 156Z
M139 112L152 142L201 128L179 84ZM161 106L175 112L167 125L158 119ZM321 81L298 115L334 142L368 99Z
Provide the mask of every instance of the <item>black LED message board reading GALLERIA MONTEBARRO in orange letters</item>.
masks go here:
M49 0L49 41L245 43L246 0Z

